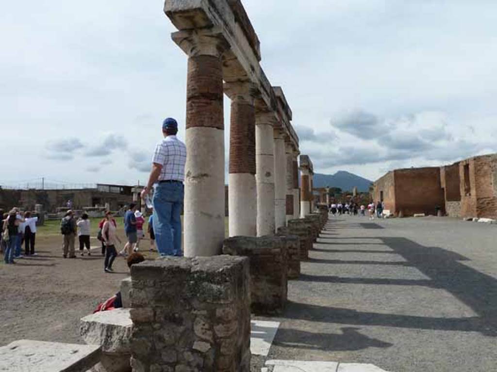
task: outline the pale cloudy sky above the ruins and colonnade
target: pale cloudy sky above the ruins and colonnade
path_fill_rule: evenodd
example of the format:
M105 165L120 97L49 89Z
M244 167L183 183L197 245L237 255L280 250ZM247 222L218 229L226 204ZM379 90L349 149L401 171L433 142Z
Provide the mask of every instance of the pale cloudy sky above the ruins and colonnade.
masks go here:
M497 152L496 1L243 2L315 172L375 180ZM0 185L146 182L162 120L184 139L187 56L163 5L4 4ZM226 144L229 111L225 97Z

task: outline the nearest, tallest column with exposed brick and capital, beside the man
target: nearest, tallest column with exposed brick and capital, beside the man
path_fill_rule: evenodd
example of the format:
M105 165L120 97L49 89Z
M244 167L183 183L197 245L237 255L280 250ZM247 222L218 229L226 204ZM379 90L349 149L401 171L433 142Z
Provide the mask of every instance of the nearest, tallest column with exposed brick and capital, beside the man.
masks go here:
M227 43L209 30L179 31L188 53L184 254L221 253L225 239L223 66Z

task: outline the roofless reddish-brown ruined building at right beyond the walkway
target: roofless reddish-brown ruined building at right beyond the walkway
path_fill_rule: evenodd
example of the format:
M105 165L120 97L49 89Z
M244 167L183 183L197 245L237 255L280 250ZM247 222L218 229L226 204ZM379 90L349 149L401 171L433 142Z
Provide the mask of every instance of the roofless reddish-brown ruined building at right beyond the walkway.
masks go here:
M374 183L373 197L397 216L436 214L439 206L450 217L497 218L497 154L391 171Z

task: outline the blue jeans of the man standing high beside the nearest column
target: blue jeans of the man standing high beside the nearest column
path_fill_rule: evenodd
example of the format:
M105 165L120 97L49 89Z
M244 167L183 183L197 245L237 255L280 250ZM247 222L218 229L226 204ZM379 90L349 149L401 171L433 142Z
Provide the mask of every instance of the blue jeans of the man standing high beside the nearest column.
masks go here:
M154 234L157 250L161 256L182 256L181 210L183 209L184 186L171 182L157 184L154 204Z

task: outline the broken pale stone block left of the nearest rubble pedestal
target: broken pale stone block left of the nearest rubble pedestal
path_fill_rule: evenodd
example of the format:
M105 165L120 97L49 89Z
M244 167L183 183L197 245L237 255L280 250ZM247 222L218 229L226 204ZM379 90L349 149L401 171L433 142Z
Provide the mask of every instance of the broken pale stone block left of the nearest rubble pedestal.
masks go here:
M80 334L88 345L100 345L102 357L91 372L131 372L130 309L99 311L81 319Z

